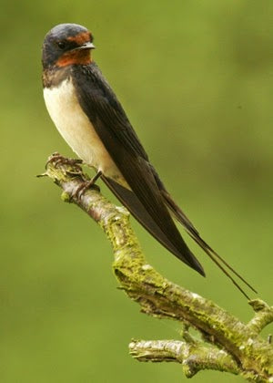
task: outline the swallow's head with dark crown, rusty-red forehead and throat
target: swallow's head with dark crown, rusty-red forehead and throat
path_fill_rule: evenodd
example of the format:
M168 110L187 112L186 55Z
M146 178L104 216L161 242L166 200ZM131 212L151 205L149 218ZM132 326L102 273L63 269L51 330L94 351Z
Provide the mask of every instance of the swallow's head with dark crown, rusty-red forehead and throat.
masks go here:
M93 36L85 26L59 24L46 35L42 63L49 67L86 65L91 62L90 49L94 49Z

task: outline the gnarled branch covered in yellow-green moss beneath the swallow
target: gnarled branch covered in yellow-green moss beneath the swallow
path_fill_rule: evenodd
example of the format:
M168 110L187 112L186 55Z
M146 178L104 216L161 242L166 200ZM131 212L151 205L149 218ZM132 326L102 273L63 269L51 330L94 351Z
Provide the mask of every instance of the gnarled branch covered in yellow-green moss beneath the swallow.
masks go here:
M75 203L102 227L113 246L113 269L120 287L141 306L141 311L186 324L183 341L132 341L129 351L133 357L181 363L188 378L202 369L217 369L249 381L273 382L273 347L259 336L273 321L273 307L259 299L250 301L255 316L243 324L213 302L168 281L147 264L126 209L107 201L97 189L78 192L88 178L75 161L55 153L42 175L62 188L63 201ZM189 336L188 326L197 329L204 340Z

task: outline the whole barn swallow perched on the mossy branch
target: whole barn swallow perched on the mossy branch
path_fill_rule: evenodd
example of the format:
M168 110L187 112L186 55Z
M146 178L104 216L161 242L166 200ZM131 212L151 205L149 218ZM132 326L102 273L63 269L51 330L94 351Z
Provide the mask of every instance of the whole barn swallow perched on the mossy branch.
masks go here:
M55 26L45 36L44 98L56 128L77 156L96 170L96 179L100 177L168 251L205 276L174 217L244 295L230 272L255 291L200 237L167 192L125 110L92 60L94 48L92 34L76 24Z

